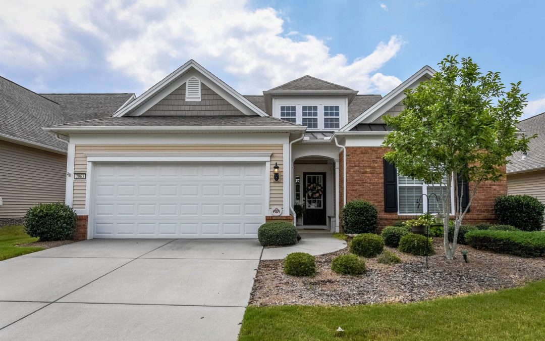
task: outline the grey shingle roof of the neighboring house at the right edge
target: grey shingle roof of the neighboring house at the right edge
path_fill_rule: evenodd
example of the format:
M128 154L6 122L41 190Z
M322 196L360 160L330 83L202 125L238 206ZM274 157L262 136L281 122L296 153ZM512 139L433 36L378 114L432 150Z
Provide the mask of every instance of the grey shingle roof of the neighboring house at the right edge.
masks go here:
M520 121L517 127L524 135L537 134L537 137L528 143L528 152L524 159L522 153L515 153L507 158L511 161L507 164L507 174L545 169L545 112Z

